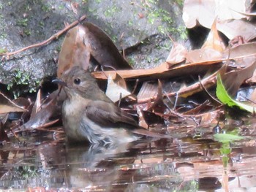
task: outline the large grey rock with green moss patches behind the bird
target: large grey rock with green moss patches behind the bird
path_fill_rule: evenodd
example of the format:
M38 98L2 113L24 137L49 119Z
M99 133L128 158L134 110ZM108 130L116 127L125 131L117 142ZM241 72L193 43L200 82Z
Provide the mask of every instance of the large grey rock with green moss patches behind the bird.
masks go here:
M80 0L78 15L102 28L135 68L165 61L172 42L187 39L181 1ZM48 39L72 23L70 1L0 0L0 53L19 50ZM79 18L79 16L77 17ZM33 92L45 77L56 76L56 59L64 36L1 61L0 82L18 96Z

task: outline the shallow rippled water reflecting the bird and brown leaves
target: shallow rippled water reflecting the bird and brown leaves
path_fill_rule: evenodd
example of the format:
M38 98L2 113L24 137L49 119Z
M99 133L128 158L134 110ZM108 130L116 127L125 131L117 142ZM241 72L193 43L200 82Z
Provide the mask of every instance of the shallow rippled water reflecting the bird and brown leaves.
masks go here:
M171 128L173 139L69 146L61 128L0 147L1 190L256 191L254 129L239 142L212 139L212 127ZM193 133L193 134L191 134ZM197 134L195 134L197 133ZM197 137L195 137L197 135ZM193 138L194 137L194 138Z

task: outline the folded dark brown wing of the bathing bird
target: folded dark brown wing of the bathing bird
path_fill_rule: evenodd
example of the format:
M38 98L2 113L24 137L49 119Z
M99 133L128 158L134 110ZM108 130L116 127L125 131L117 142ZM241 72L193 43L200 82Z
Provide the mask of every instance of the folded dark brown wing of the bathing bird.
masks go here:
M106 101L91 101L86 107L85 115L102 127L136 128L138 124L127 112L123 112L115 104Z

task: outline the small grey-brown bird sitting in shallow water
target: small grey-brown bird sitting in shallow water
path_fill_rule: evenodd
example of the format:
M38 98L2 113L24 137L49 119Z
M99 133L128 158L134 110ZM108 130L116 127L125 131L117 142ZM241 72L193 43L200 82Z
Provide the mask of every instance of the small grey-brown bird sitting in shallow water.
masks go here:
M69 142L124 143L143 136L165 137L140 128L136 121L117 107L99 89L90 72L74 66L53 80L63 85L67 99L62 106L62 121Z

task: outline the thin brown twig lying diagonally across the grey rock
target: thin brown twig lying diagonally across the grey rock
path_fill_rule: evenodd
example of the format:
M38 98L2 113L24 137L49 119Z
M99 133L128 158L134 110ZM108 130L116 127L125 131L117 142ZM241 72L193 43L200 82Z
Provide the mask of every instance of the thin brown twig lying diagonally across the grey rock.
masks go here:
M29 50L31 48L34 47L40 47L42 45L47 45L49 42L53 41L54 39L58 39L58 37L60 37L62 34L64 34L66 31L68 31L70 28L73 28L74 26L78 25L78 23L82 20L86 19L86 15L83 15L80 20L75 20L73 23L71 23L69 26L66 26L65 28L63 28L61 31L57 32L56 34L53 34L53 36L51 36L49 39L46 39L43 42L39 42L36 43L34 45L29 45L28 47L23 47L20 50L16 50L14 52L10 52L10 53L0 53L0 55L4 55L4 56L10 56L10 55L15 55L17 53L23 52L24 50Z

